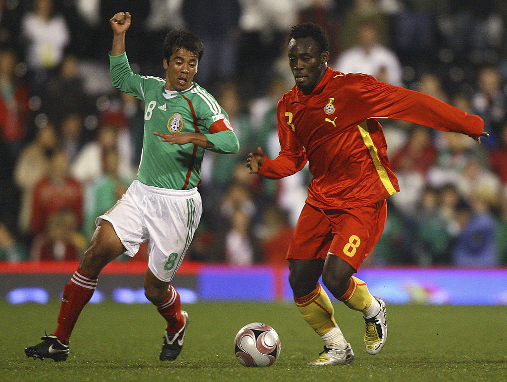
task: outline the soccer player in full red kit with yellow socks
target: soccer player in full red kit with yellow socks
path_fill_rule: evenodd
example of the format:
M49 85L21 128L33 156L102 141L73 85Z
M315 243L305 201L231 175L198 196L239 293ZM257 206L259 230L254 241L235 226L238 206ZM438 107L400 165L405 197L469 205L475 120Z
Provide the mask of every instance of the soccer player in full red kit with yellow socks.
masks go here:
M329 42L318 25L296 25L288 39L296 86L278 102L281 150L269 159L262 148L247 167L270 179L301 170L313 179L287 251L289 284L303 318L325 342L311 365L337 365L354 358L335 322L323 284L348 307L363 312L369 354L387 338L385 302L353 276L377 243L387 216L386 198L400 191L389 167L381 118L467 134L480 142L484 122L437 98L328 67Z

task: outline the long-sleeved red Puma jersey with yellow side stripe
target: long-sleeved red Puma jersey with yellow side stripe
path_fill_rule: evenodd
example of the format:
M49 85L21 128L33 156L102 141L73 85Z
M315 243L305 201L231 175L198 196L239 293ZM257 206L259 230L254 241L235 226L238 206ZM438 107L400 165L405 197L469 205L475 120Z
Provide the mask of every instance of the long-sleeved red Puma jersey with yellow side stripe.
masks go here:
M378 118L401 119L479 137L484 121L424 93L328 67L313 91L297 86L278 101L280 153L259 174L280 179L309 163L307 203L322 209L371 205L400 191Z

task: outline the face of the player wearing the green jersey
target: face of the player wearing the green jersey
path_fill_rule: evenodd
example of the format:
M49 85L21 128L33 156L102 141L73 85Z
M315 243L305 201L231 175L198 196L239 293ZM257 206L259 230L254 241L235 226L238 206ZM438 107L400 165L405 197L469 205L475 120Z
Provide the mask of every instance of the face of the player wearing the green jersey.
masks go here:
M185 48L176 50L169 61L164 58L165 88L184 91L192 86L197 73L197 56Z

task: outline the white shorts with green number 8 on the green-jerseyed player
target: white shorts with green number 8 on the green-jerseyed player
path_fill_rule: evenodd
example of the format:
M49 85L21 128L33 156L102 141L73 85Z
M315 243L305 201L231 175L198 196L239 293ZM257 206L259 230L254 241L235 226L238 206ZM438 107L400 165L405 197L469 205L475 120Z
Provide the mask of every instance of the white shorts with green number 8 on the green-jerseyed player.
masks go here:
M110 222L130 257L149 241L148 267L170 282L187 252L202 214L197 188L170 190L135 180L111 210L95 220Z

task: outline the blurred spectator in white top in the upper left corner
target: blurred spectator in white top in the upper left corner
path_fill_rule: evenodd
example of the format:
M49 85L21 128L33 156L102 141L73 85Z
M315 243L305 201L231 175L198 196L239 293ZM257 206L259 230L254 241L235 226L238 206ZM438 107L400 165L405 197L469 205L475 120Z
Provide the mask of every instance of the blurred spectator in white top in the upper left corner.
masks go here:
M33 93L43 90L50 73L62 61L70 34L65 18L55 12L53 0L34 0L33 12L23 15L21 36Z

